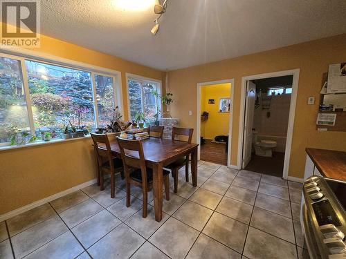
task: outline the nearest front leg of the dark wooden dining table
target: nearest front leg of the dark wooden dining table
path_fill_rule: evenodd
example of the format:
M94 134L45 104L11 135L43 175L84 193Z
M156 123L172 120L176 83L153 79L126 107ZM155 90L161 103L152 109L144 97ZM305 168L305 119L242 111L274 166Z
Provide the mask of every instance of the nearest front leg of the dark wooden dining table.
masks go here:
M154 209L155 220L162 220L162 200L163 200L163 171L162 164L153 164L153 193L154 193Z

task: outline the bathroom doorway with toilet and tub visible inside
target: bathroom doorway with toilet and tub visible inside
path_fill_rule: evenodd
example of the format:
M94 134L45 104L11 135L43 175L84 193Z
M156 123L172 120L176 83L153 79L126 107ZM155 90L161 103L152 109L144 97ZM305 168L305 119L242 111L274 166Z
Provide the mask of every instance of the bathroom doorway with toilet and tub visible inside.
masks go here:
M287 179L298 73L243 78L241 169Z

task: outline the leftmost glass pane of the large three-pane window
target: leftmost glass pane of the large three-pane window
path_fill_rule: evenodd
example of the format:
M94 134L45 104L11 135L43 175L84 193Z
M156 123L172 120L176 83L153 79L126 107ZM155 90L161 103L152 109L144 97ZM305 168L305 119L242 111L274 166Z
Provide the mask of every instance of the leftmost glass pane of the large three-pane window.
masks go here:
M0 143L10 142L10 128L29 130L20 61L0 57Z

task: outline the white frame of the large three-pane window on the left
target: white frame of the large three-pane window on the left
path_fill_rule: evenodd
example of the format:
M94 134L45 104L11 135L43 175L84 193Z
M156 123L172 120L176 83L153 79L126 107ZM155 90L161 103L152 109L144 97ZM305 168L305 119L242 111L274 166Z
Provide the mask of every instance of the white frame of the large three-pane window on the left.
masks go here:
M70 59L64 59L60 57L55 57L53 55L46 55L42 53L35 53L33 50L1 50L0 57L15 59L20 61L21 75L23 77L23 87L24 95L26 100L26 108L28 111L28 122L30 126L30 133L35 134L35 125L33 119L33 106L30 98L30 90L28 85L28 73L26 70L26 60L39 62L42 64L48 64L52 66L60 66L64 68L70 68L75 70L83 70L86 73L90 73L91 77L91 88L93 93L93 109L94 109L94 119L95 127L99 126L99 117L98 117L98 100L96 97L96 84L95 84L95 75L101 75L105 77L111 77L113 79L113 99L114 106L118 106L120 113L122 113L122 84L121 84L121 73L117 70L111 70L109 68L102 68L99 66L93 66L89 64L84 64L82 62L73 61ZM61 139L62 141L66 141ZM48 142L46 142L48 143ZM1 143L0 146L10 146L10 142Z

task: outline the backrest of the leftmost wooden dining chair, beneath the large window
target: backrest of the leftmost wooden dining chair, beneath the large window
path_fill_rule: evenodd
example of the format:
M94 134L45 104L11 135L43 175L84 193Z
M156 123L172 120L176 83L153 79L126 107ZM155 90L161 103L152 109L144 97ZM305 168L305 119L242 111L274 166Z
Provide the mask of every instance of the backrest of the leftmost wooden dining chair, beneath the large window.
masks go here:
M109 165L113 168L113 157L111 155L111 145L109 144L109 140L107 135L105 134L96 134L90 133L91 138L93 139L93 147L95 150L95 154L98 156L98 162L102 164L102 158L108 160ZM104 144L104 146L100 146L99 144Z

